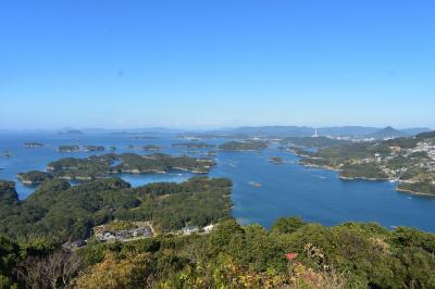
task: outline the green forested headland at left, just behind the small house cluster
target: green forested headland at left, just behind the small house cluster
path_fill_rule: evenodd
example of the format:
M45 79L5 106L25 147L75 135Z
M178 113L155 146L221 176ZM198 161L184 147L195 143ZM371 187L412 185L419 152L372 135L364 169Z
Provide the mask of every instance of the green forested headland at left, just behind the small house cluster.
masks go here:
M130 188L121 178L77 186L50 179L20 201L10 181L0 181L0 234L14 240L84 240L91 228L115 219L150 221L159 231L206 226L231 216L227 179L194 177L182 184Z

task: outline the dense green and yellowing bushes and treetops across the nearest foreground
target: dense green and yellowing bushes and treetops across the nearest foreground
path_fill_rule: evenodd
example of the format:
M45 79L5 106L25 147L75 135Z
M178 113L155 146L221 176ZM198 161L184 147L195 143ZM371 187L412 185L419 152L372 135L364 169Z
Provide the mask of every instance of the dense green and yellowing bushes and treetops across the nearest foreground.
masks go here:
M281 218L270 231L222 222L210 235L65 251L0 237L0 287L434 288L435 236L375 224Z

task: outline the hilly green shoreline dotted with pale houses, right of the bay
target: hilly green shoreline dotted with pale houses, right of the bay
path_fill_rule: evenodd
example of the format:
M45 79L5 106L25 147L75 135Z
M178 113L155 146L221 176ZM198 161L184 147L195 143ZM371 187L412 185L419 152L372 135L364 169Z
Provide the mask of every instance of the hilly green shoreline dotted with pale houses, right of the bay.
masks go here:
M435 194L435 133L330 144L316 152L290 149L302 156L300 163L336 169L344 179L390 179L400 191Z

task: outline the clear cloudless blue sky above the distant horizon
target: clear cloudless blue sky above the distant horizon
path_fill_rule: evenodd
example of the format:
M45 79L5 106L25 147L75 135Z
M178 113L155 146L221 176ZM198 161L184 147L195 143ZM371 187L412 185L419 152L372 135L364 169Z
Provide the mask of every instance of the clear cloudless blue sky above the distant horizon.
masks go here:
M435 128L435 1L4 0L0 128Z

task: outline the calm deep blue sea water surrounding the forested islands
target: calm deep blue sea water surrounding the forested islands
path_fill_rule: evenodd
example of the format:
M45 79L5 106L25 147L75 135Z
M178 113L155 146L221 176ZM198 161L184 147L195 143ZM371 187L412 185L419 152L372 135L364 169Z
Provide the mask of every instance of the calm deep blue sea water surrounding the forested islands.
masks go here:
M39 141L44 148L26 149L26 141ZM65 156L85 158L92 153L59 153L60 144L101 144L117 147L116 153L137 152L127 144L162 146L162 152L203 156L207 150L194 152L189 149L173 148L173 142L185 140L175 137L160 137L152 140L134 140L132 137L66 137L66 136L0 136L0 152L10 150L12 158L0 155L0 179L16 181L16 174L29 169L45 169L50 161ZM224 140L207 140L220 143ZM270 156L281 156L284 164L269 162ZM298 158L274 148L257 152L219 152L214 156L217 166L210 173L213 177L233 180L234 216L241 224L259 223L270 227L279 216L298 215L309 222L336 225L348 221L376 222L387 228L411 226L435 231L435 198L412 196L395 190L388 181L343 181L337 173L303 167ZM191 177L187 173L165 175L121 175L132 186L153 181L184 181ZM260 183L261 187L252 186ZM35 188L16 181L20 198L25 199Z

